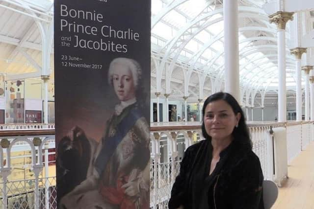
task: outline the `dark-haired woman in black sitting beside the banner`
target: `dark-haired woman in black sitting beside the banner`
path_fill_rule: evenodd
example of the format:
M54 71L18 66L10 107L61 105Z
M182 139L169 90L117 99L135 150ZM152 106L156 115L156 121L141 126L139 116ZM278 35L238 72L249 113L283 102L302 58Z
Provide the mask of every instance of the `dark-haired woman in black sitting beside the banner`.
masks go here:
M185 151L169 209L263 209L262 168L239 104L214 93L203 116L206 140Z

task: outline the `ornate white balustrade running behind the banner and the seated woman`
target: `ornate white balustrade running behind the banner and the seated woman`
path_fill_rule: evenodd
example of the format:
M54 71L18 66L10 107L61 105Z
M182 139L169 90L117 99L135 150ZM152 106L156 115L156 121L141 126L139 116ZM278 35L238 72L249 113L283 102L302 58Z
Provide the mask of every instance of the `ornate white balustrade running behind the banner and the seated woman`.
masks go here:
M172 126L177 126L179 124L176 122L169 123L172 123L173 125L161 127L161 129L155 129L158 131L151 131L150 208L152 209L168 208L167 204L170 198L171 188L176 176L180 171L180 162L183 158L184 151L188 146L204 139L200 126L194 126L191 128L183 127L182 130L173 130ZM188 125L192 123L193 125L194 123L198 123L198 125L200 125L199 122L183 123L188 123ZM264 179L270 180L273 178L274 158L272 141L273 136L269 134L271 127L287 128L288 163L293 160L293 158L298 153L301 152L302 148L305 148L306 145L308 145L309 142L313 140L312 136L314 135L313 122L269 122L262 124L249 124L249 131L253 142L253 151L260 158ZM38 146L34 146L31 143L34 137L26 136L8 137L10 146L7 148L0 147L0 175L2 176L2 181L6 182L6 184L3 184L3 182L0 183L0 190L3 194L2 199L0 199L0 201L2 201L0 204L2 204L3 209L11 207L12 204L14 205L16 201L20 201L20 203L16 204L27 204L29 208L56 209L55 179L53 178L51 181L48 181L49 178L39 178L39 176L36 175L36 172L41 171L43 168L42 156L44 151L44 143L48 142L48 144L50 144L49 148L52 148L51 145L54 143L54 136L51 135L36 137L40 137L40 139L42 139L42 142ZM23 180L19 181L19 183L13 183L7 181L7 177L10 175L12 169L12 167L10 167L10 159L8 158L10 157L10 152L12 152L12 150L18 150L17 147L19 146L23 146L24 148L28 147L28 150L32 150L31 167L34 172L35 179ZM6 164L3 164L4 160L6 160ZM19 187L14 187L16 184L20 184L22 190L19 190ZM14 188L16 188L16 190L14 190ZM49 193L46 191L49 191ZM47 196L47 194L49 196ZM48 201L49 204L47 204Z

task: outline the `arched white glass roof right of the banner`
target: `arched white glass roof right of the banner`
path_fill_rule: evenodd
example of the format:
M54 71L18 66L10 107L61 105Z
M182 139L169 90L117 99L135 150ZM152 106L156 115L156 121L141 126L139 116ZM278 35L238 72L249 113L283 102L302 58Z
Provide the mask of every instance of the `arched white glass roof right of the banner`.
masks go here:
M264 0L239 2L240 85L278 86L276 25L261 9ZM153 51L223 79L222 8L219 0L152 0ZM294 70L293 58L287 52L287 70ZM295 86L293 76L287 73L287 86Z

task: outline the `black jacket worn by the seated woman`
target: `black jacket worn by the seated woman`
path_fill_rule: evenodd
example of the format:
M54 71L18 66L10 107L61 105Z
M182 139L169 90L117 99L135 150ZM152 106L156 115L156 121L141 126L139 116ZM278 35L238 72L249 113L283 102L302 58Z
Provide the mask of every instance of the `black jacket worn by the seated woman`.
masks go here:
M199 180L199 173L202 172L200 167L210 163L210 149L212 147L209 140L187 148L180 174L172 187L169 209L177 209L180 205L184 209L264 209L263 175L257 155L248 146L233 141L227 148L227 154L220 156L221 164L217 163L218 170L215 168L216 172L211 174L212 181L204 181L202 185L202 177ZM206 161L208 152L210 160ZM195 186L198 182L200 189ZM206 183L209 185L204 186ZM205 195L203 187L209 190ZM206 201L208 206L199 204L202 201Z

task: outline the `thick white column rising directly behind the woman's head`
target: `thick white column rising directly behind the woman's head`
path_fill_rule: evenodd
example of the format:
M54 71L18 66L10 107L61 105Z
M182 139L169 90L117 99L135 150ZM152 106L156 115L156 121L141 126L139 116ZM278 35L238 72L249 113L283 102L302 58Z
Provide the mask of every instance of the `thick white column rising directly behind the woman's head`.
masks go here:
M240 103L238 0L224 0L225 92Z

